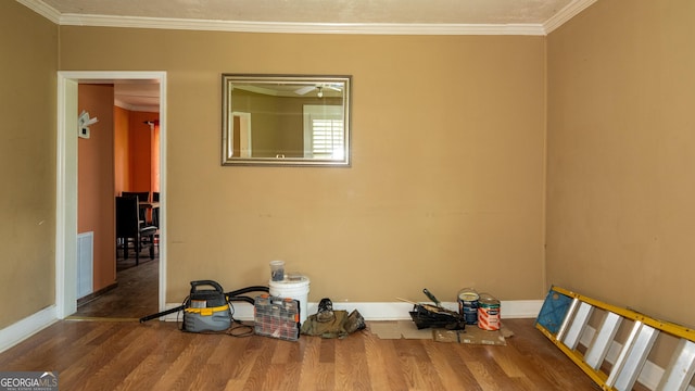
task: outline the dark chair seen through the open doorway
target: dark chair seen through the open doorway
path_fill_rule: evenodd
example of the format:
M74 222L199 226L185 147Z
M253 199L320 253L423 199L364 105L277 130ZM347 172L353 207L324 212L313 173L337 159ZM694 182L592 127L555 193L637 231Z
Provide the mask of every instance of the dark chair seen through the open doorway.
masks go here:
M140 251L150 245L150 260L154 260L154 235L156 227L140 223L140 205L137 197L116 197L116 257L118 242L123 243L123 257L128 258L130 241L135 247L135 264L140 264Z

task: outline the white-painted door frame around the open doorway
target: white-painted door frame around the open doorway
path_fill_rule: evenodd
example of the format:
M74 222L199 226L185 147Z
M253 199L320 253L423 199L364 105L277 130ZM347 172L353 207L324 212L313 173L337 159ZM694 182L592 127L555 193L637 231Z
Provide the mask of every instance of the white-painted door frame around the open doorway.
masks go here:
M160 311L166 300L166 72L58 73L55 173L55 307L60 319L77 311L77 85L117 80L160 84Z

